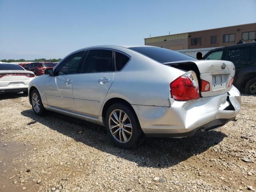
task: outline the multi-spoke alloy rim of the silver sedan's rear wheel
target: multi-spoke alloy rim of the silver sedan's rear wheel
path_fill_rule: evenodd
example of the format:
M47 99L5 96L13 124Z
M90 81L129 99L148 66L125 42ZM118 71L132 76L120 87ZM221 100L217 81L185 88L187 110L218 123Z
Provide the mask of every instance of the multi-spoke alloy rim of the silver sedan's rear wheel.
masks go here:
M120 143L126 143L132 137L132 124L128 115L122 110L111 112L108 125L110 133Z

